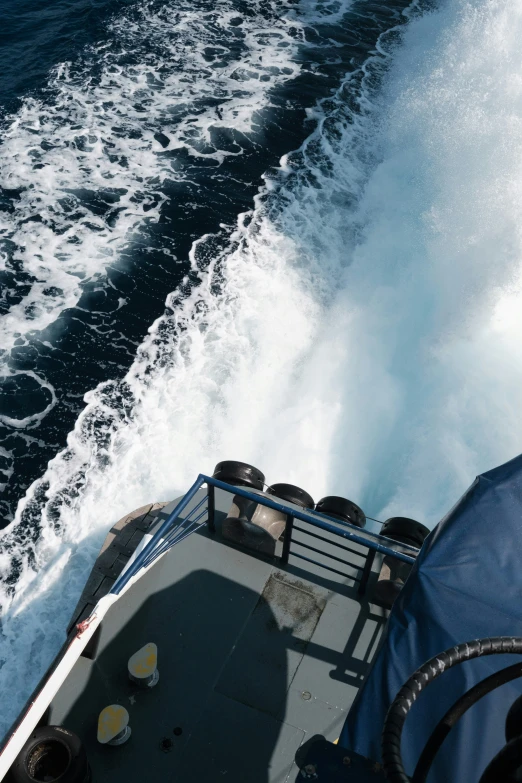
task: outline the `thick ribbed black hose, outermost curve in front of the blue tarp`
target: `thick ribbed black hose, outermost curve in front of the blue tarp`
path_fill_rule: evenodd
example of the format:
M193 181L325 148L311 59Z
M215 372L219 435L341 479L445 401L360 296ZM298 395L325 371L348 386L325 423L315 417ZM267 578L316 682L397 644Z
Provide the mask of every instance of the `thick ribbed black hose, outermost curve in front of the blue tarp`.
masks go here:
M382 762L389 783L410 783L401 756L404 722L421 691L459 663L484 655L521 655L522 638L495 636L450 647L427 661L402 686L388 710L382 732Z

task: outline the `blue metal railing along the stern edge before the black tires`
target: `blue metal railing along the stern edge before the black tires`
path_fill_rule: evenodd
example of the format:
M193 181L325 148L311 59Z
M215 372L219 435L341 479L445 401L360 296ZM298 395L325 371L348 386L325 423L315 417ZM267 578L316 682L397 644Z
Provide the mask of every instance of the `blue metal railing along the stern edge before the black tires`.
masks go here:
M203 484L207 485L207 495L190 510L186 517L180 519L181 513L186 509L190 501L194 498L198 490L201 489ZM402 560L405 563L415 562L415 557L418 553L418 550L415 549L415 547L408 546L407 544L397 544L397 542L392 541L391 539L387 539L384 536L380 536L377 533L371 533L366 530L363 531L354 525L341 523L338 519L328 517L324 514L319 515L317 512L306 511L304 509L300 510L293 506L288 506L285 503L278 501L275 496L274 499L272 499L266 495L256 494L255 492L245 489L244 487L235 487L231 484L225 484L224 481L219 481L213 477L200 474L186 495L184 495L184 497L179 501L167 519L152 536L151 540L144 546L144 548L141 550L141 552L139 552L139 554L126 568L126 570L116 579L110 592L115 595L119 595L123 588L134 576L136 576L136 574L142 568L146 568L147 566L151 565L151 563L160 557L160 555L164 554L171 547L183 541L183 539L187 538L187 536L195 533L196 530L205 524L208 525L208 528L211 532L214 532L214 493L216 488L222 489L232 495L239 495L240 497L247 498L248 500L252 500L256 503L262 504L263 506L267 506L268 508L272 508L276 511L280 511L286 514L287 525L285 528L283 552L281 555L281 561L283 563L288 562L291 544L293 542L298 546L304 546L307 549L319 552L320 554L325 555L334 561L344 563L345 565L350 565L351 567L359 568L362 570L362 575L360 578L357 578L339 571L331 566L327 566L316 560L312 560L305 555L299 554L295 551L292 552L292 556L294 557L300 558L301 560L313 563L320 566L321 568L325 568L329 571L340 574L341 576L348 577L353 581L359 582L360 594L364 593L366 583L372 569L373 560L377 552L380 552L382 555L393 557L396 560ZM205 503L206 508L204 507ZM197 514L198 511L199 514ZM197 516L194 517L194 514L197 514ZM206 519L204 519L205 516ZM310 535L313 538L326 541L330 545L332 544L331 539L327 539L317 533L312 533L309 530L295 526L294 521L296 519L302 522L306 522L308 525L318 528L319 530L333 534L339 538L346 539L347 541L353 542L359 546L363 546L367 550L366 554L364 552L354 551L353 549L350 549L349 547L339 543L335 544L336 547L340 550L346 550L352 554L365 557L366 559L364 566L362 568L361 566L354 566L353 564L347 563L345 560L341 560L335 555L331 555L330 553L324 552L323 550L318 550L309 544L304 544L301 541L293 539L292 534L294 531L297 531ZM408 550L411 552L411 554L408 553Z

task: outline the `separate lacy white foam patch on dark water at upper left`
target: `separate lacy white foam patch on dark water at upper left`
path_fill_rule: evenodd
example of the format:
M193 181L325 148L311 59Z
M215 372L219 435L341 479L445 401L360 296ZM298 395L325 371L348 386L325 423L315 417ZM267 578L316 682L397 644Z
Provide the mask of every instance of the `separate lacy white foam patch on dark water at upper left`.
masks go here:
M158 219L165 180L190 178L196 158L242 153L216 147L220 129L256 138L271 91L299 72L307 22L288 0L244 15L232 0L143 2L24 101L0 143L0 187L13 199L0 213L0 270L29 282L22 296L13 286L3 351L74 306L82 281Z

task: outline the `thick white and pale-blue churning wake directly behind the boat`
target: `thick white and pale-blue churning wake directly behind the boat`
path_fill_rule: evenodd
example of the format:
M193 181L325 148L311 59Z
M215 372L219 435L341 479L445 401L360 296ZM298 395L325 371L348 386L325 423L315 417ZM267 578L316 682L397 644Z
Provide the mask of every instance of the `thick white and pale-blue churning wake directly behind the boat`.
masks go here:
M521 42L514 0L413 21L385 89L383 54L323 102L125 383L89 395L3 536L21 571L3 596L6 724L15 668L33 655L38 678L110 523L219 459L433 524L517 453Z

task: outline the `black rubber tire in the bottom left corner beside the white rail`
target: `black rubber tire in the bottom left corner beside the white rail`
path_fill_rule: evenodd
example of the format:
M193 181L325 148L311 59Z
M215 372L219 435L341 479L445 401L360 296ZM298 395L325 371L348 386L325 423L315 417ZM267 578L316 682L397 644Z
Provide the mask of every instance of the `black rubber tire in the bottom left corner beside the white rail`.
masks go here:
M50 758L49 754L53 753ZM47 776L44 767L48 764ZM50 775L55 774L55 777ZM36 728L9 771L12 783L89 783L91 771L81 740L62 726Z

